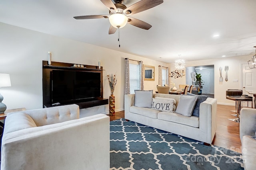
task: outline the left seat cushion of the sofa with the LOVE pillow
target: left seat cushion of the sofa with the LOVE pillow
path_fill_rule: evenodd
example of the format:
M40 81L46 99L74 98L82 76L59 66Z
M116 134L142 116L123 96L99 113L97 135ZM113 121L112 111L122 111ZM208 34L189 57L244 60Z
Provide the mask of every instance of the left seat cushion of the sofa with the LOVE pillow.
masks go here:
M130 112L136 113L139 115L144 115L147 117L152 117L154 119L157 119L157 114L160 112L159 110L151 109L151 108L146 108L146 107L136 107L136 106L131 106L130 107Z

